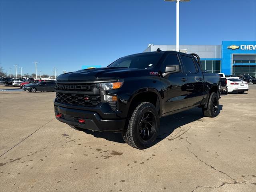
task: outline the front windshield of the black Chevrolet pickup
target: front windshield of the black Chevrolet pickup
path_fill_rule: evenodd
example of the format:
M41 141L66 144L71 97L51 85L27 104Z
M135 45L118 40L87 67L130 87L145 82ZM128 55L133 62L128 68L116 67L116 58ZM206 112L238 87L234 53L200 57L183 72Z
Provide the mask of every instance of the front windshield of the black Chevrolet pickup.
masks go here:
M122 57L108 67L126 67L126 68L138 68L146 69L156 66L160 60L161 53L152 53L152 54L136 54L132 56Z

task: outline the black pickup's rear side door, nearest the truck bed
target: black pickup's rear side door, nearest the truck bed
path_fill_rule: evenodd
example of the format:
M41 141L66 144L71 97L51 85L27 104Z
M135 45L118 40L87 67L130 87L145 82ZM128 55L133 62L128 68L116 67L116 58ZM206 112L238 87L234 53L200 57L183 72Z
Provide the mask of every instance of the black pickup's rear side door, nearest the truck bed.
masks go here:
M180 54L184 70L188 76L187 106L199 105L204 98L204 77L193 56Z

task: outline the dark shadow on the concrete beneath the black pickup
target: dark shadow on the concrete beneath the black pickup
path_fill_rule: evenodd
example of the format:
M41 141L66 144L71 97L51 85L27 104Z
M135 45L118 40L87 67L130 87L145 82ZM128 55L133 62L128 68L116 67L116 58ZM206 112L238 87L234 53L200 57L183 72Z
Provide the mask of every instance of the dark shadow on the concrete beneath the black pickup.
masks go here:
M218 114L222 110L222 105L219 105ZM201 108L193 108L184 112L180 112L174 115L165 116L160 118L160 130L158 136L156 138L155 144L164 140L166 137L170 136L172 132L186 124L189 124L194 121L198 121L203 118L202 109ZM204 121L204 120L200 120ZM207 119L205 120L207 121ZM97 132L91 130L82 130L86 134L91 134L96 138L104 138L108 141L125 143L121 133L111 133L111 132Z

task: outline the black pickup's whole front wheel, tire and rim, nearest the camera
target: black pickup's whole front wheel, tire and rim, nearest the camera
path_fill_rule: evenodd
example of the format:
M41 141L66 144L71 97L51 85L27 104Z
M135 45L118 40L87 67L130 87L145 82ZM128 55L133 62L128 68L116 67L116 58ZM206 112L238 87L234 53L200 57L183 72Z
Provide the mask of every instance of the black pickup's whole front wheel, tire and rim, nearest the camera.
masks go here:
M149 102L142 102L132 112L122 136L128 145L145 149L154 144L158 130L159 116L155 106Z

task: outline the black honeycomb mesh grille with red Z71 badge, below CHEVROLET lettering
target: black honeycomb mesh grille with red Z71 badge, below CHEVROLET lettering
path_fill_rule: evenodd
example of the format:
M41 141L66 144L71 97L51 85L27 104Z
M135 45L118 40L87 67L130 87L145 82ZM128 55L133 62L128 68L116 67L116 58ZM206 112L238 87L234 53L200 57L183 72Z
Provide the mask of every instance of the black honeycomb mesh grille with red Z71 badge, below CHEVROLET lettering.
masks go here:
M72 94L56 92L57 101L64 104L72 104L77 106L96 106L100 100L100 95L90 94Z

